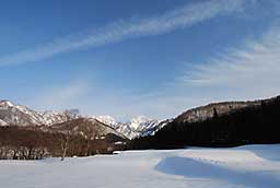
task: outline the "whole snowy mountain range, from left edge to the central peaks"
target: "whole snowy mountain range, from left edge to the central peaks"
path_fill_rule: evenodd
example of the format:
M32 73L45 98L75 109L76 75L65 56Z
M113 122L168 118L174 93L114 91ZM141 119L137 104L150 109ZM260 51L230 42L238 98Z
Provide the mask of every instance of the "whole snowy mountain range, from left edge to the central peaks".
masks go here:
M10 101L0 101L0 126L52 126L77 119L80 116L78 109L57 111L43 111L30 109L25 106L13 104ZM96 119L109 126L117 132L133 139L141 136L151 136L165 126L168 121L150 119L144 116L136 117L127 122L118 122L110 116L83 117L84 119Z

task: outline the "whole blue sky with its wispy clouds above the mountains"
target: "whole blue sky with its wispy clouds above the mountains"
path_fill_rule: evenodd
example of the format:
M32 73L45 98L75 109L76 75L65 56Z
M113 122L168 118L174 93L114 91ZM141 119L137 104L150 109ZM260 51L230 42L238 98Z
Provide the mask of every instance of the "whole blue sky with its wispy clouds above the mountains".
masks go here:
M0 98L174 117L280 94L277 0L49 0L0 7Z

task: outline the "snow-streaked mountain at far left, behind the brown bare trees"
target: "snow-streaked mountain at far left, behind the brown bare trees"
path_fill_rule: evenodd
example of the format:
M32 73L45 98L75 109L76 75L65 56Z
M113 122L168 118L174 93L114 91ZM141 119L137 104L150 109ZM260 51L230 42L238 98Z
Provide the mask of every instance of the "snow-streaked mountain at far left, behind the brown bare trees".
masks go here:
M71 110L63 113L44 111L38 113L22 105L13 104L10 101L0 101L0 125L18 126L51 126L77 118L78 115Z

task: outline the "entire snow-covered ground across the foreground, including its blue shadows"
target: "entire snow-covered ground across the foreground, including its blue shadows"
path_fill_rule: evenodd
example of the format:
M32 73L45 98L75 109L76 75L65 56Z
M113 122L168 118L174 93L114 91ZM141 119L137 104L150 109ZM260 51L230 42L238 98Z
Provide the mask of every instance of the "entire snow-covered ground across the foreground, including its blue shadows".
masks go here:
M1 188L279 188L280 144L0 161Z

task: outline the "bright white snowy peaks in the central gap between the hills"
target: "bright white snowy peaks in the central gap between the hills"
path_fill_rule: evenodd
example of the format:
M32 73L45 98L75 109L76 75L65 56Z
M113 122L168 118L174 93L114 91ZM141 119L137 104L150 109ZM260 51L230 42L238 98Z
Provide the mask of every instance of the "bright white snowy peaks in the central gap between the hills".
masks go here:
M95 116L94 118L116 129L118 132L122 133L128 139L133 139L137 137L143 137L143 136L152 136L159 129L161 129L167 122L171 121L171 120L160 121L156 119L147 118L144 116L132 118L127 122L117 122L110 116Z

